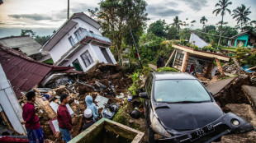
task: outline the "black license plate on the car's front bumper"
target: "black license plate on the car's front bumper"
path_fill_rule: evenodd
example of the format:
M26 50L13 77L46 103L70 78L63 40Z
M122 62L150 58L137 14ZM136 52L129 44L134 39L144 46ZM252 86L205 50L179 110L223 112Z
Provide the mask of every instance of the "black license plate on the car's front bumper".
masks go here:
M198 129L197 131L193 131L191 133L191 138L190 138L190 141L194 141L198 138L200 138L201 136L205 136L207 135L208 133L210 133L211 131L214 131L214 127L209 124L209 125L206 125L205 127L202 127L200 129Z

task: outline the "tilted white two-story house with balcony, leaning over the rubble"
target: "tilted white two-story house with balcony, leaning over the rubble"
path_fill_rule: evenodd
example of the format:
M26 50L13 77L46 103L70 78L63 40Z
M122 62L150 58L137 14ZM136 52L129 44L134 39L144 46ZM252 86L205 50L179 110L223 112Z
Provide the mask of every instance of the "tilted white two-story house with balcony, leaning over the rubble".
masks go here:
M100 27L83 12L74 13L41 50L50 53L56 66L71 66L77 71L88 71L97 62L116 64L109 49L111 41L102 36Z

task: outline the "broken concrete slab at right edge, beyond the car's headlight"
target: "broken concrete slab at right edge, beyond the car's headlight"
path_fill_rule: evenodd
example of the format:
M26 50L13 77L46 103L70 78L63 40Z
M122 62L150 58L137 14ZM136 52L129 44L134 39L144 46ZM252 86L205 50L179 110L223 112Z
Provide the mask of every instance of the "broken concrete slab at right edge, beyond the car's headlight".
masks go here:
M249 99L250 104L253 106L256 111L256 87L250 85L242 85L242 90L244 91L244 95Z

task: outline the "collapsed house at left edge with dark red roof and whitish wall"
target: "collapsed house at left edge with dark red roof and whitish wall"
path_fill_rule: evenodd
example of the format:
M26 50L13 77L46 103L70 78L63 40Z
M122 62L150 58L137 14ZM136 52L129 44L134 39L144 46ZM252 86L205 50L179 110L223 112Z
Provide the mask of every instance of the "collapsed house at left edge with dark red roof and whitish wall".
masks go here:
M27 57L0 44L0 133L26 134L21 125L22 109L18 99L46 76L55 72L73 72L73 67L52 66Z

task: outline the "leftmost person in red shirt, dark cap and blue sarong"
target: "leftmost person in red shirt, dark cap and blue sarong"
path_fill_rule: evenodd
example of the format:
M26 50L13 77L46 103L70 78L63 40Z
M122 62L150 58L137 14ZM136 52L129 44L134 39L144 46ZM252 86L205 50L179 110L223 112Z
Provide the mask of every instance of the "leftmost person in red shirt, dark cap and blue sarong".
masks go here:
M30 91L26 94L27 102L23 106L22 118L25 124L27 137L30 143L43 143L44 134L40 127L39 118L36 116L36 109L34 102L36 100L36 94L34 91Z

